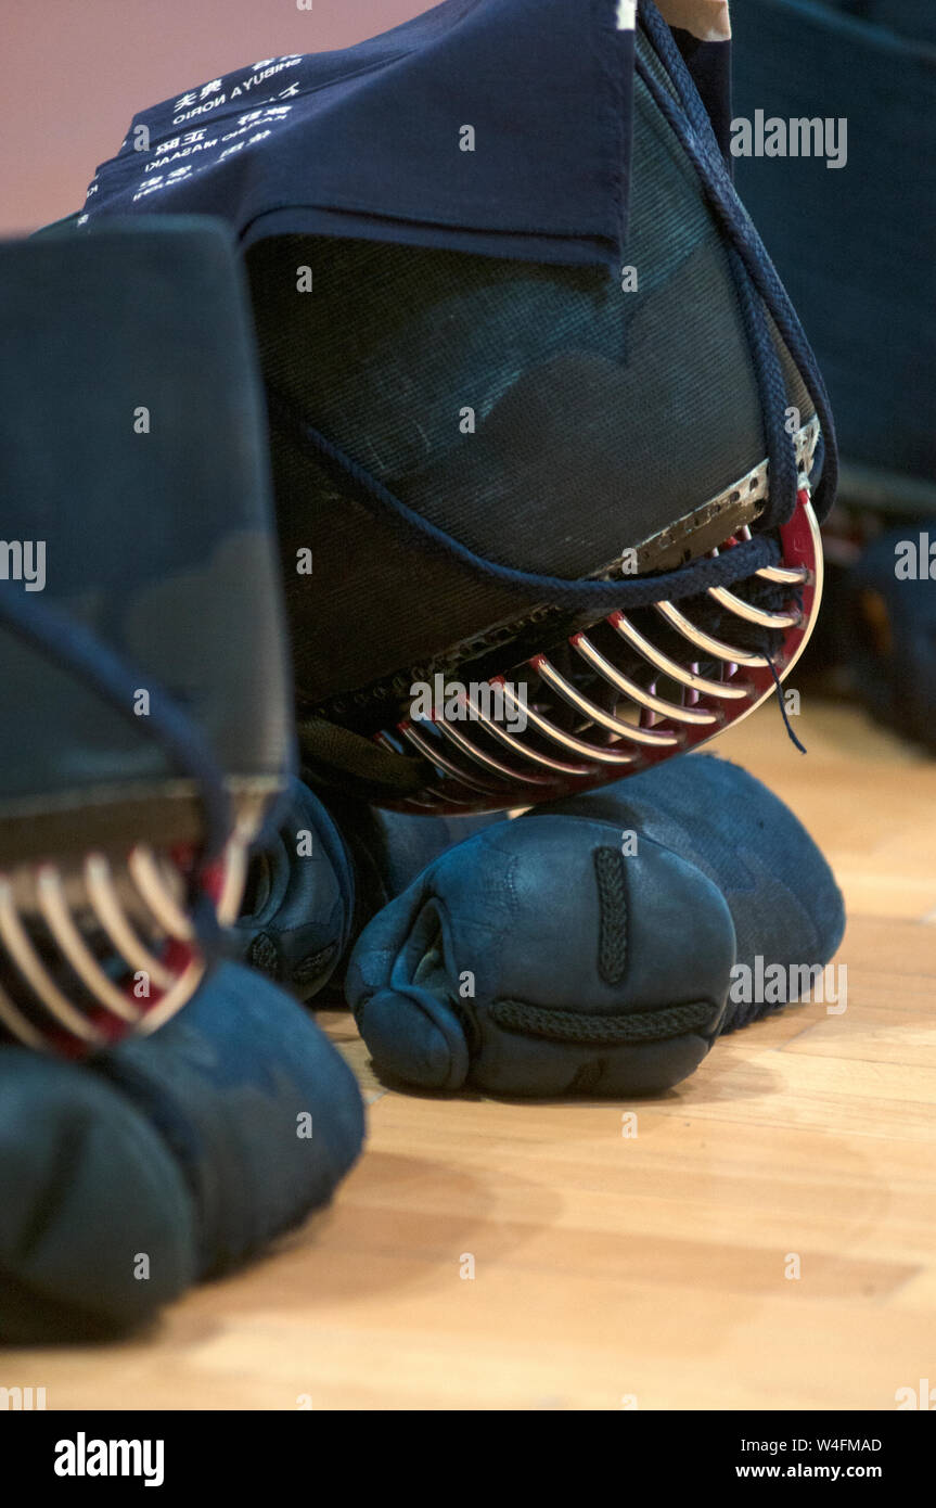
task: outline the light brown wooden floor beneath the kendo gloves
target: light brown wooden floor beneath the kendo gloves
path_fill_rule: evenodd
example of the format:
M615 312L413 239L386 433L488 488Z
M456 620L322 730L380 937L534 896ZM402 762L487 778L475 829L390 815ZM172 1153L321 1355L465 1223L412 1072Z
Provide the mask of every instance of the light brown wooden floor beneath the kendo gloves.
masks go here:
M377 1096L333 1208L148 1338L5 1372L50 1408L894 1408L936 1383L936 762L852 710L797 731L808 759L767 707L719 752L834 863L844 1015L794 1007L636 1107L387 1093L333 1015Z

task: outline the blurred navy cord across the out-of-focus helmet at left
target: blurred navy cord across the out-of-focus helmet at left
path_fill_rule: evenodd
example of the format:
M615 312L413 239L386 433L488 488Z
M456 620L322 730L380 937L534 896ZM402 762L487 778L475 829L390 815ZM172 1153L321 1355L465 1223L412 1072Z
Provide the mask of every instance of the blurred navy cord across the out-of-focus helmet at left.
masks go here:
M217 858L231 834L231 799L225 789L225 777L216 762L200 728L176 706L152 677L136 673L107 644L101 642L83 623L66 617L57 608L38 602L12 582L0 582L0 623L41 650L50 659L65 664L87 686L104 697L118 712L140 727L140 718L133 710L134 694L140 686L151 692L151 716L146 730L166 751L172 763L197 781L205 817L205 841L202 866ZM206 897L205 897L206 899ZM217 930L203 909L206 932ZM214 908L211 908L214 917Z

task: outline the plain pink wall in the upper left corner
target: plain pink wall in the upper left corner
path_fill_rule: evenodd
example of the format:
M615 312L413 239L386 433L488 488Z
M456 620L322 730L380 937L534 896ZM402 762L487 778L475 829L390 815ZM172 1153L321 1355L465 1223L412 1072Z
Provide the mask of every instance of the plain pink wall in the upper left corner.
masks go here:
M137 110L283 53L348 47L434 0L0 0L0 235L78 210Z

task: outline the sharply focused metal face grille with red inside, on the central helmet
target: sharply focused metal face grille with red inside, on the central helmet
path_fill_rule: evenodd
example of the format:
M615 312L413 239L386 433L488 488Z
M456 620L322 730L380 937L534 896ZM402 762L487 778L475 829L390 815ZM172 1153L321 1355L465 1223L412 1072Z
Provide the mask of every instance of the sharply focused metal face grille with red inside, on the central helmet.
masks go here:
M788 676L818 612L821 540L805 472L778 537L779 562L734 591L613 612L485 686L455 689L430 716L410 709L377 742L418 754L427 783L387 805L455 814L553 801L740 722ZM743 526L708 555L748 538Z

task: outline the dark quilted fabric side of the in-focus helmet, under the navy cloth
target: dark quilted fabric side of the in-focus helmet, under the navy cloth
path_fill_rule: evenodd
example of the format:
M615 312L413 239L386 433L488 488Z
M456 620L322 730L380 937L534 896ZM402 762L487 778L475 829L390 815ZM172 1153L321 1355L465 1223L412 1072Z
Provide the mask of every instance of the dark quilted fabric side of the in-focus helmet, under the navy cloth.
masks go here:
M639 78L630 228L636 291L603 268L261 241L249 273L267 382L478 555L595 573L766 454L720 232ZM307 294L297 291L303 267ZM805 422L812 406L782 348L781 360ZM467 407L475 433L464 434ZM342 721L363 730L387 695L374 683L398 673L408 685L413 667L515 623L515 593L451 558L414 555L353 484L276 427L273 442L300 706L339 694ZM295 573L303 546L314 578Z

